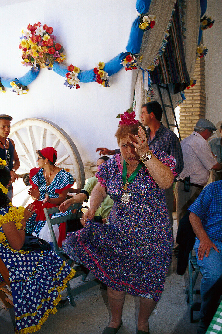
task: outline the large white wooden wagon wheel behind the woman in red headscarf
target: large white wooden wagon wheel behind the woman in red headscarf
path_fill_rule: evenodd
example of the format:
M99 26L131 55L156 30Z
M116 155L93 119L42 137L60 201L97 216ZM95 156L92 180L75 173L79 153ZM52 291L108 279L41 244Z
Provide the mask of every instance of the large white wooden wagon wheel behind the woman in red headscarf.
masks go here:
M15 143L21 165L17 170L20 178L13 184L13 205L24 206L32 199L22 176L33 167L38 167L36 150L54 147L57 151L59 167L68 170L76 181L76 188L85 184L85 173L79 152L72 139L59 126L40 118L26 118L11 127L9 138Z

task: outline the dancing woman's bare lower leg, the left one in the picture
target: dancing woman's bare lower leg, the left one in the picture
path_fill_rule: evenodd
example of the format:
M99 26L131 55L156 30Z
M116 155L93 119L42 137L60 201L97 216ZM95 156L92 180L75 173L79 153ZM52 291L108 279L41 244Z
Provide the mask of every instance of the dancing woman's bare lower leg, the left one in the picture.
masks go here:
M111 319L108 327L118 328L122 321L125 291L116 291L107 287L107 297L111 310Z

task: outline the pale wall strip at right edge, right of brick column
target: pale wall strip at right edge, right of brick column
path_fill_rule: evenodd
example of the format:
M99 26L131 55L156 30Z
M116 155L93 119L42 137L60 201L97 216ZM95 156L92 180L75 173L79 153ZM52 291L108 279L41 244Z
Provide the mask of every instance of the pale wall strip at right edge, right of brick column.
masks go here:
M208 48L205 56L205 91L206 91L206 118L219 129L222 123L222 2L208 0L205 15L215 20L213 27L203 32L204 45ZM217 136L220 136L218 131Z

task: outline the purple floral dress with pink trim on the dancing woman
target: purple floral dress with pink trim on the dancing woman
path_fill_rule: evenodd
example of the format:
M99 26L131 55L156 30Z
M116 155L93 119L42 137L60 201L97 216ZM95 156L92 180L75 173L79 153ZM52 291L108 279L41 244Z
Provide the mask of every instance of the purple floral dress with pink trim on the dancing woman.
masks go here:
M176 160L163 151L152 152L176 176ZM108 287L158 301L173 248L165 191L144 166L128 186L130 202L124 204L122 171L120 154L116 154L96 173L114 200L110 225L87 220L84 228L68 233L62 246Z

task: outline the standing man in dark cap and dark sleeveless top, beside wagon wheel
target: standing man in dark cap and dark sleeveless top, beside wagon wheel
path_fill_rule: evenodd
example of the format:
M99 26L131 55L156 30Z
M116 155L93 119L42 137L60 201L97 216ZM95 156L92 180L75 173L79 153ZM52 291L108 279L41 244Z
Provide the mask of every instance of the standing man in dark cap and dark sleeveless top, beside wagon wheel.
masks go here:
M17 180L16 170L20 166L18 154L15 149L15 144L12 139L8 138L10 133L12 117L9 115L0 115L0 158L6 161L7 167L10 170L11 181L8 185L8 197L12 200L13 187L12 183Z

